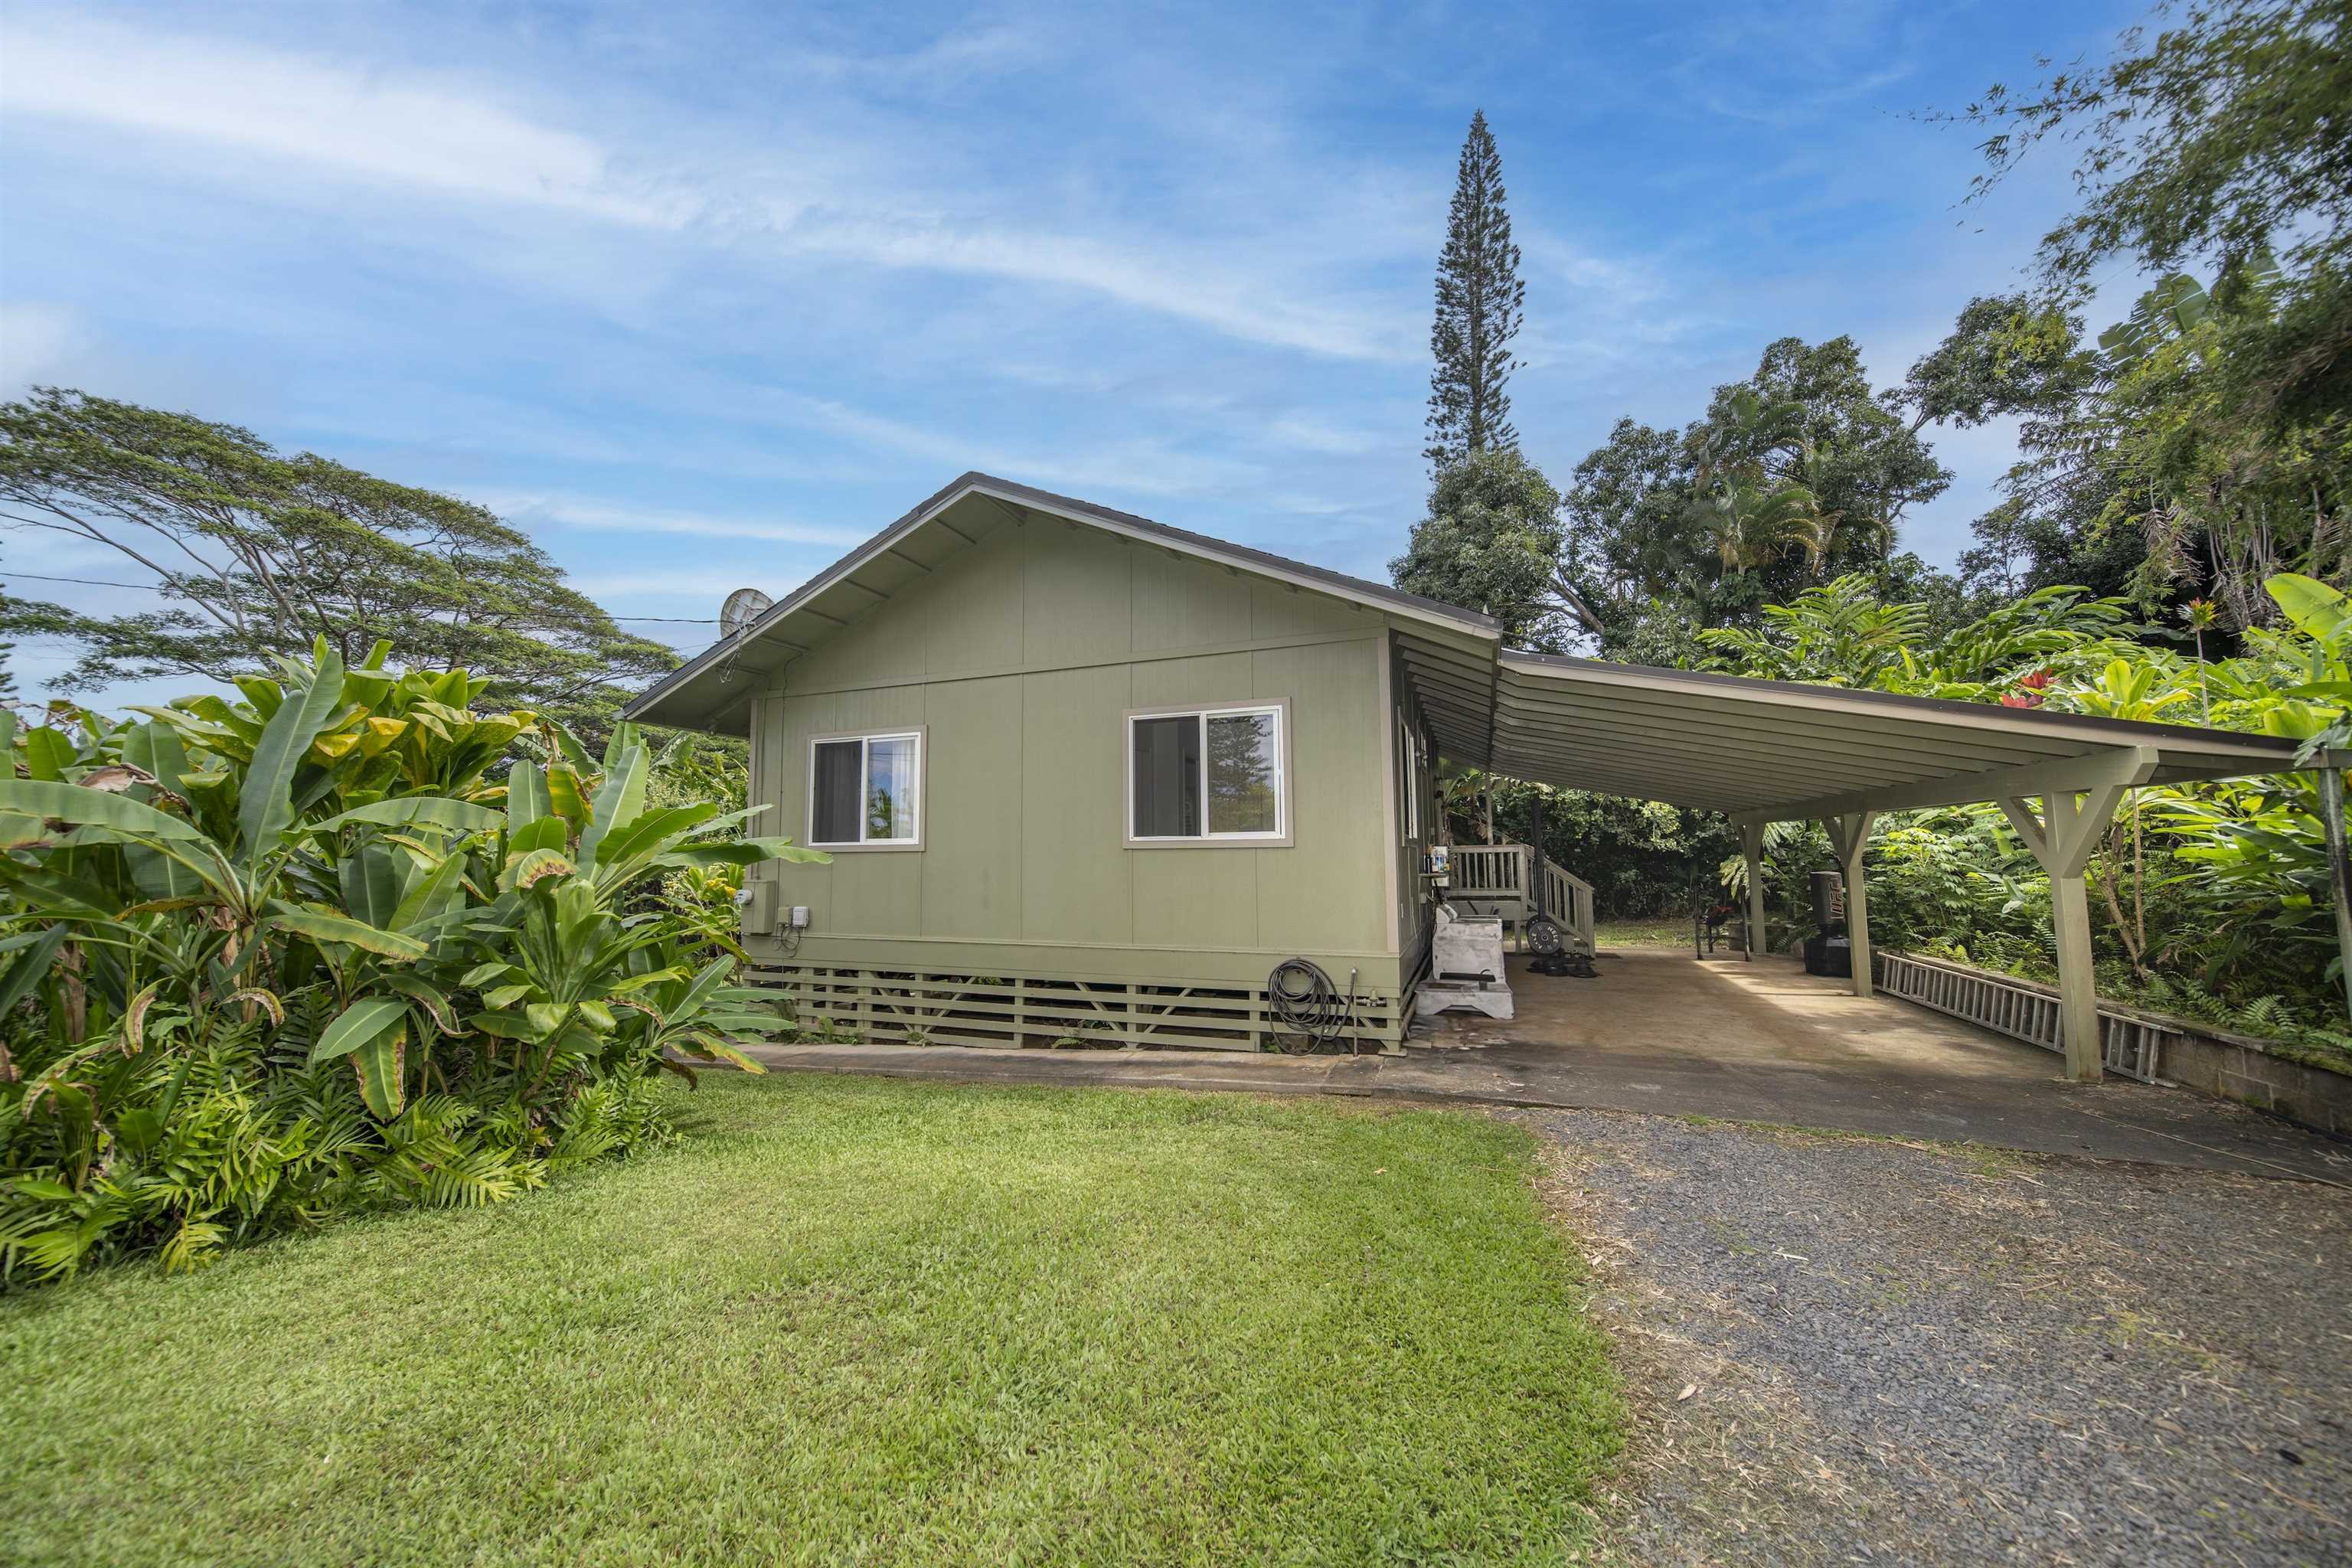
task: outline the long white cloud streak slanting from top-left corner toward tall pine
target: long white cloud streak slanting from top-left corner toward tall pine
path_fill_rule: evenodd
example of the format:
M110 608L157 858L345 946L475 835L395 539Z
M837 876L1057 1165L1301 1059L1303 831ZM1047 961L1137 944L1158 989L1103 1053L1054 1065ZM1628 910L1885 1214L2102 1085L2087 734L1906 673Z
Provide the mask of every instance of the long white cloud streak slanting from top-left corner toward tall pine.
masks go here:
M1011 42L943 40L938 66L978 68ZM696 146L677 167L630 165L593 136L550 127L473 82L360 71L332 59L240 42L172 38L106 24L42 19L9 28L0 106L12 118L101 125L172 143L235 148L325 174L397 183L459 200L560 209L586 219L691 233L706 242L837 256L889 268L1082 289L1221 334L1343 360L1406 360L1406 322L1381 308L1329 303L1279 259L1235 268L1171 247L1164 235L1056 233L957 209L962 193L927 193L901 174L910 148L816 143L729 160ZM706 174L701 169L734 169ZM828 167L840 169L828 174ZM790 174L779 174L790 169ZM287 193L294 195L294 193Z

